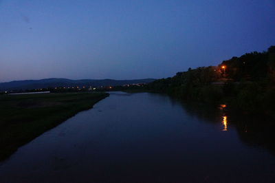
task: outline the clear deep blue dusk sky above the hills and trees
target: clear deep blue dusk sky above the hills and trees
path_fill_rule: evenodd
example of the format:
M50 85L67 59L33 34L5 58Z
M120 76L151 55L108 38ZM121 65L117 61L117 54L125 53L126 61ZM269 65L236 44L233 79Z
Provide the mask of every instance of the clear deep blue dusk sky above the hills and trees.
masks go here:
M275 0L0 0L0 82L166 78L275 45Z

